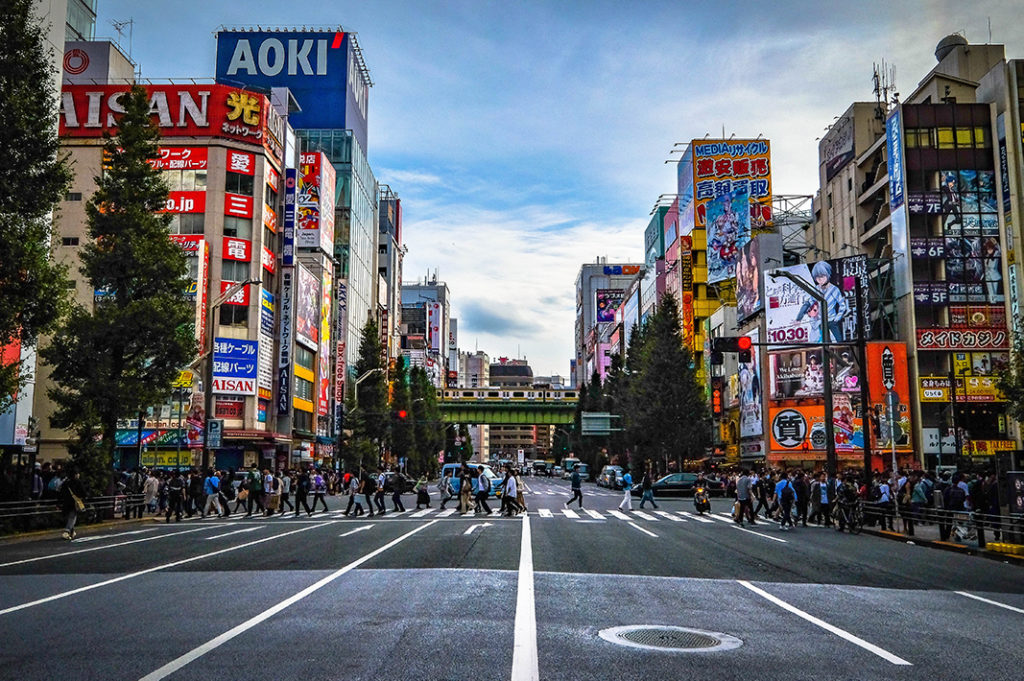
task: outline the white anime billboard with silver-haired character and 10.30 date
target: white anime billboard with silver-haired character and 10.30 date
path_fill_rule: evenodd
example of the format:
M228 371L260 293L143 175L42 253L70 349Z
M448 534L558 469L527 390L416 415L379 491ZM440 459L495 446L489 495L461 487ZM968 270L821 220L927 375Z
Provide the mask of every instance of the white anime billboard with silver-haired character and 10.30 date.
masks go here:
M820 343L823 340L818 301L792 280L778 272L787 272L804 284L817 289L828 301L828 330L831 342L857 339L857 291L861 287L864 309L864 337L869 338L867 257L818 260L817 262L779 267L764 276L765 316L770 343ZM772 274L776 276L773 278Z

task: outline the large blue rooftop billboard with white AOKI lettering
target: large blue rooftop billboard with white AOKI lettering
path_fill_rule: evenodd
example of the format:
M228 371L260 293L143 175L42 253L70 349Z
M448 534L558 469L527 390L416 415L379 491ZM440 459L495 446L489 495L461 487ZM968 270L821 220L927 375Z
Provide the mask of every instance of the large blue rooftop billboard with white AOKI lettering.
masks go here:
M287 87L302 111L295 129L348 128L367 151L370 77L353 34L342 31L221 31L218 83Z

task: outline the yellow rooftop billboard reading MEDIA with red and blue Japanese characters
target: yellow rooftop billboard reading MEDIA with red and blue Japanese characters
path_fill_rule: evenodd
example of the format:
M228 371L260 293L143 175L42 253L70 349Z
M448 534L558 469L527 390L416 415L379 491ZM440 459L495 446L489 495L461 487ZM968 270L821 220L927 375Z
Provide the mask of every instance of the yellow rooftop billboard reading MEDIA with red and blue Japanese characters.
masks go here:
M771 144L767 139L694 139L690 150L696 227L708 224L712 201L740 193L750 198L751 228L771 224ZM683 169L679 173L680 179L688 174ZM679 193L684 189L680 187Z

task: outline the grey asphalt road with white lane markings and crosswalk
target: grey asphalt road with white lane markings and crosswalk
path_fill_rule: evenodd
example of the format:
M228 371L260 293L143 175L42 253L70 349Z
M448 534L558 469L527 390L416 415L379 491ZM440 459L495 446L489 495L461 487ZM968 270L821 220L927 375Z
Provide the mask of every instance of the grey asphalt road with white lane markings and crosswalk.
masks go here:
M592 484L566 515L567 482L526 483L525 519L442 515L436 495L346 518L339 498L0 543L0 679L1024 678L1021 567L740 529L724 500L714 518L688 499L616 516L622 493ZM627 626L734 647L602 637Z

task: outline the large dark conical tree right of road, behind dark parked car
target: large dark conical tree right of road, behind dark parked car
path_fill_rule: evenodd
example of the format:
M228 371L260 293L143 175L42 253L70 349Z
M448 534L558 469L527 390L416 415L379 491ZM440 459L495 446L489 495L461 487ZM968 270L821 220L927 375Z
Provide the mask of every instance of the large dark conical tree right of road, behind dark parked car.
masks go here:
M642 342L631 408L631 430L642 437L633 456L635 468L651 460L668 466L671 460L702 458L711 442L711 415L671 294L662 296Z

